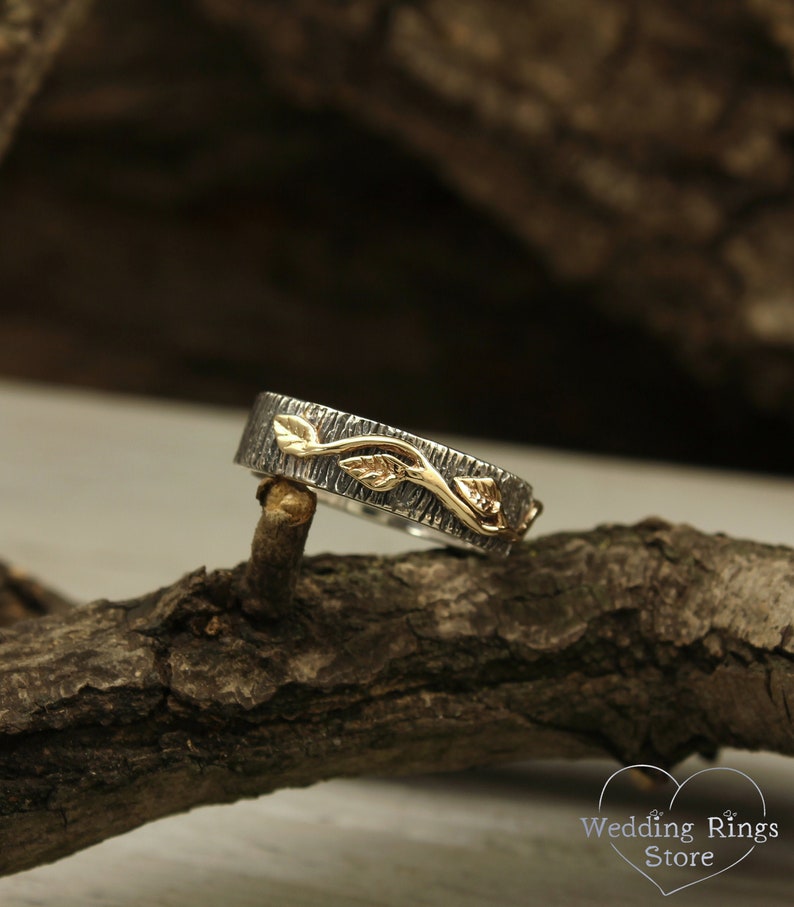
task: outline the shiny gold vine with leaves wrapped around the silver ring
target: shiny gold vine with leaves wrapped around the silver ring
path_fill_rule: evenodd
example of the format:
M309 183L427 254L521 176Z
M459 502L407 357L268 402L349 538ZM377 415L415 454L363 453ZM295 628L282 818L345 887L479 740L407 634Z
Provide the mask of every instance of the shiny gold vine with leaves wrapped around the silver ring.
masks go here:
M317 429L303 416L279 413L273 419L279 449L295 457L348 454L367 448L378 453L346 457L339 466L372 491L391 491L401 482L429 489L465 526L481 535L498 535L518 541L540 512L533 503L517 528L510 526L502 510L499 485L489 477L455 476L452 487L427 457L413 444L388 435L356 435L339 441L320 441ZM405 455L409 462L393 456Z

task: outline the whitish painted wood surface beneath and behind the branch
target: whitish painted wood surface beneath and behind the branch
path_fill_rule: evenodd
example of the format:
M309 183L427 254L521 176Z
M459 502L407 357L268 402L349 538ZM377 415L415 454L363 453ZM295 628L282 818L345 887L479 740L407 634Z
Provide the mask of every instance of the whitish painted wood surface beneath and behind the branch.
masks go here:
M231 465L243 420L0 382L0 557L78 599L134 595L202 563L244 559L258 507L255 481ZM791 481L451 441L533 482L546 505L538 532L656 514L794 544ZM328 508L309 550L420 544ZM759 783L781 837L675 903L788 907L794 761L728 751L720 762ZM691 760L677 775L699 766ZM655 903L661 894L585 840L578 819L593 814L614 768L537 762L338 781L198 809L0 879L0 907Z

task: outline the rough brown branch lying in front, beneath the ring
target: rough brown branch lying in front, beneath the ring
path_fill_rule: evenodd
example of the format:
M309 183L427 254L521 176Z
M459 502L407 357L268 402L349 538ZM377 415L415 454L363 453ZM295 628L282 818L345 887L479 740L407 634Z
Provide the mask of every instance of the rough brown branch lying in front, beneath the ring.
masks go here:
M2 631L3 872L335 776L794 754L790 549L653 520L506 561L324 555L266 629L250 571Z

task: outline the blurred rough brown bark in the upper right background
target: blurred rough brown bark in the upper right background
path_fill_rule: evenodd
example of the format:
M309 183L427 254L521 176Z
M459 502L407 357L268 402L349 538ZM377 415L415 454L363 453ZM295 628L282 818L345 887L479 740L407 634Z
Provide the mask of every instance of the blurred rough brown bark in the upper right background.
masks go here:
M430 158L561 284L794 417L794 12L776 0L197 0Z

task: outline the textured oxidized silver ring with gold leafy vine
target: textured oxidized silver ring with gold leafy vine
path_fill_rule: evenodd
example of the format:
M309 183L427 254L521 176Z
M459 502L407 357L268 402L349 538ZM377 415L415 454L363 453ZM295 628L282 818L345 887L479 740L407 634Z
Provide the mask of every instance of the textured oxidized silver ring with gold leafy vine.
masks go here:
M532 486L505 469L284 394L256 398L234 462L412 535L503 556L542 510Z

